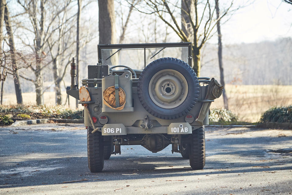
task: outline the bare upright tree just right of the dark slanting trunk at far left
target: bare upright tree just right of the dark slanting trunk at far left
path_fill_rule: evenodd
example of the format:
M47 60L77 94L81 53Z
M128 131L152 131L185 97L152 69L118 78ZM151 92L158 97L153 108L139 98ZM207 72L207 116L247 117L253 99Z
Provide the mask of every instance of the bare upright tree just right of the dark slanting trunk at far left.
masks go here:
M43 69L48 65L43 62L47 56L45 52L47 41L59 29L54 27L54 22L57 16L70 5L71 0L66 1L63 6L60 6L57 1L46 0L17 0L17 2L28 14L31 27L26 27L26 29L31 29L29 31L34 34L33 45L30 45L30 47L35 52L35 66L30 66L30 69L34 73L35 79L22 77L34 83L36 87L36 104L41 105L43 104Z

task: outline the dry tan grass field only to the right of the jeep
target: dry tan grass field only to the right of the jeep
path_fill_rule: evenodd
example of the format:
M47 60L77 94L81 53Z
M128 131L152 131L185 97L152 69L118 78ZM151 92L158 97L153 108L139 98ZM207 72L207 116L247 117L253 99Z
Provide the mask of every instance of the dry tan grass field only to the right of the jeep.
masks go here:
M240 121L258 122L260 116L273 106L292 105L292 86L226 85L229 109ZM223 108L222 96L211 108Z

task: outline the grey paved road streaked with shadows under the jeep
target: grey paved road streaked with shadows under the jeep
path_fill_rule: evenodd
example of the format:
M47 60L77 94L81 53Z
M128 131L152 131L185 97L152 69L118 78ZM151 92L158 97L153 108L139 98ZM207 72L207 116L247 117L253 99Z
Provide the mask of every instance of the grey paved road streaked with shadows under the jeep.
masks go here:
M0 194L291 194L291 152L291 130L207 127L203 170L171 146L158 153L122 146L93 174L82 125L5 127Z

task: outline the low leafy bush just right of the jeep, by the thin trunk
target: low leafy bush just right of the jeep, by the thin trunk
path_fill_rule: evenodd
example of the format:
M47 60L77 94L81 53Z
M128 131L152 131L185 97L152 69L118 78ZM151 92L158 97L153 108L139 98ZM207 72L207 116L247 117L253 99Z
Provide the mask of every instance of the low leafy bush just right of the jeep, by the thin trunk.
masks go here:
M238 117L230 110L214 108L210 110L209 121L213 122L237 122Z

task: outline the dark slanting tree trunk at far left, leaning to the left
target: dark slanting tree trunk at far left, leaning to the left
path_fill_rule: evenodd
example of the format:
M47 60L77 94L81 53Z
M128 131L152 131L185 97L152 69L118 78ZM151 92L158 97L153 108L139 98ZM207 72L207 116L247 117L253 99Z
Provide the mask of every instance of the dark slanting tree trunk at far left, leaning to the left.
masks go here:
M14 50L13 32L12 32L9 10L8 10L7 5L5 6L4 20L5 20L5 25L6 25L6 31L9 37L9 48L10 48L11 61L12 61L12 70L14 74L13 81L14 81L14 87L15 87L16 100L17 100L17 104L23 104L21 86L19 82L19 74L17 71L17 59L15 56L15 50Z

